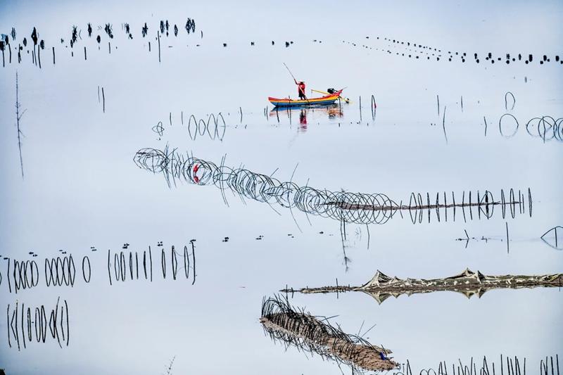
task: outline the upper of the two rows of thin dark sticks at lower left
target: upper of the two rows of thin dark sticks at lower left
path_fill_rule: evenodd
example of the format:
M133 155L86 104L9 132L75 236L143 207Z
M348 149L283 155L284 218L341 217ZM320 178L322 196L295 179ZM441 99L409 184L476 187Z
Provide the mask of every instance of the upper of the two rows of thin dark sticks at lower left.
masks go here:
M159 243L160 248L160 270L163 280L172 275L172 279L176 280L179 270L182 269L184 277L191 279L191 284L196 283L196 253L194 240L190 241L189 246L184 246L182 253L178 253L175 246L170 248L170 258L167 251ZM34 255L35 256L35 255ZM190 260L191 258L191 260ZM168 260L167 260L168 259ZM178 259L180 259L180 264ZM35 260L15 260L4 257L7 260L6 278L8 283L8 291L10 293L18 293L26 289L31 289L39 285L39 280L44 274L44 286L75 286L77 267L80 267L79 274L82 274L84 283L89 284L92 277L91 262L88 255L82 257L80 265L75 265L72 254L58 256L56 258L46 258L44 262L43 272L39 272L39 265ZM155 261L158 265L158 261ZM170 264L169 264L170 263ZM113 285L119 281L130 281L145 279L153 281L153 251L151 246L148 250L139 251L120 251L111 253L108 250L108 281ZM190 274L191 269L191 274ZM80 277L80 276L79 276ZM0 285L3 277L0 272ZM6 281L4 281L6 282Z

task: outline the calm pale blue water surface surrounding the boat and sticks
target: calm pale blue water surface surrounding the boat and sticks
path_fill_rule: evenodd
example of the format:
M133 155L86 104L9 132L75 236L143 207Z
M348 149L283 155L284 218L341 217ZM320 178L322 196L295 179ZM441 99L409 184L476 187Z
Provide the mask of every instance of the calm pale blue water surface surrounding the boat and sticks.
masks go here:
M250 3L165 4L157 13L154 4L37 4L45 17L37 19L30 11L35 5L8 2L11 15L0 15L1 32L15 26L19 40L37 25L46 48L41 69L32 65L28 44L20 65L12 56L0 70L0 307L7 310L0 319L0 367L6 374L158 374L174 359L172 374L340 374L334 362L272 343L258 322L262 298L286 286L328 286L336 279L361 285L378 269L425 279L466 268L488 275L561 272L561 250L540 236L563 223L563 125L559 121L555 133L551 122L546 132L540 124L538 133L538 120L526 127L533 117L562 117L563 65L555 61L563 54L556 27L561 4L476 5L300 4L301 11L293 12ZM48 20L53 14L56 22ZM183 29L187 17L197 25L190 35ZM514 29L530 17L545 22ZM160 38L159 63L154 38L160 19L177 23L180 32ZM121 30L122 21L132 25L132 40ZM94 36L101 34L100 49L94 36L87 37L87 22ZM107 22L115 34L110 54L103 34ZM140 34L144 22L146 39ZM71 56L73 24L82 28L82 39ZM327 24L338 30L324 30ZM416 49L418 59L408 58L415 52L393 38L420 38L419 44L441 49L443 58L436 61L434 51L422 48ZM293 44L286 47L286 41ZM466 52L467 61L453 54L450 62L447 51ZM488 63L489 51L503 60ZM515 58L533 53L534 60L506 64L506 53ZM543 54L549 63L538 63ZM296 96L283 62L307 82L308 95L311 88L346 87L351 102L272 110L267 96ZM13 126L16 70L19 101L27 109L20 120L24 179ZM514 108L510 96L505 104L508 91ZM191 115L207 122L212 113L221 113L224 123L189 125ZM463 191L491 191L498 198L501 189L508 195L511 188L527 200L530 189L533 211L529 215L526 203L514 217L510 210L503 217L497 207L490 219L479 219L474 210L473 220L463 220L458 210L453 220L448 209L447 222L443 212L440 222L432 212L429 223L424 212L416 224L404 212L384 224L348 222L344 238L339 220L208 184L177 180L169 186L163 174L134 163L140 149L166 147L296 186L382 193L396 203L407 203L413 192L424 197L429 192L434 200L445 192L448 201L455 192L458 201ZM141 260L149 246L152 282ZM178 253L176 280L171 246ZM125 274L139 267L138 280L115 279L114 255L120 266L121 251ZM130 251L138 258L133 269ZM45 258L70 254L74 286L46 286ZM39 284L15 293L13 260L37 262ZM289 302L332 317L329 322L347 333L376 324L365 338L393 350L397 362L408 360L417 374L437 369L441 360L468 363L486 355L496 362L501 354L526 357L533 371L546 355L561 354L559 293L559 288L499 289L468 300L437 292L401 295L381 305L363 293L296 293ZM23 322L20 315L12 320L15 303L20 310L23 304L24 312L31 307L30 314L44 305L49 320L58 298L58 311L66 303L58 324L61 347L47 335L45 343L27 341L18 350L13 334L18 326L20 335L28 330L25 316ZM40 319L30 321L35 338Z

